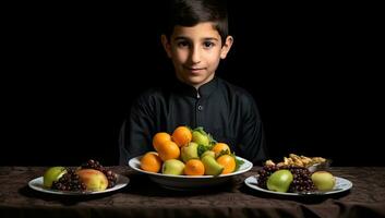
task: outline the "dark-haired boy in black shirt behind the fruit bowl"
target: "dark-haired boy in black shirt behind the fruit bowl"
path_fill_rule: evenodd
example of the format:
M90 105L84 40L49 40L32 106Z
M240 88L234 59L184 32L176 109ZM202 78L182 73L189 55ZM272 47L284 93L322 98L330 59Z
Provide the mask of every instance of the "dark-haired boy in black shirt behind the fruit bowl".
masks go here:
M266 158L261 117L253 97L215 76L229 52L224 0L172 0L161 44L175 66L173 86L154 88L133 104L120 134L120 165L153 150L157 132L203 126L237 156L256 164Z

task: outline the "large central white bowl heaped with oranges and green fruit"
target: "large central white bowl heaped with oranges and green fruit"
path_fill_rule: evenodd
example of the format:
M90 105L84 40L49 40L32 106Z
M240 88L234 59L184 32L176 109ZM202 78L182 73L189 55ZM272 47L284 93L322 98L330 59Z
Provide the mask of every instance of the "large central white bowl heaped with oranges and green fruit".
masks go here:
M228 144L216 142L203 128L178 126L172 134L156 133L153 146L154 152L130 159L129 166L167 189L222 184L253 167L249 160L231 153Z

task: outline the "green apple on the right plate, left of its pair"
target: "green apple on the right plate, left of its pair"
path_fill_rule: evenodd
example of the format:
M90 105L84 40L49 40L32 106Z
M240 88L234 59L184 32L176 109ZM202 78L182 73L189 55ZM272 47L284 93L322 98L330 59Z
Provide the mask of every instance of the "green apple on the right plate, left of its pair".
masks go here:
M289 170L277 170L267 179L267 189L275 192L288 192L293 180Z

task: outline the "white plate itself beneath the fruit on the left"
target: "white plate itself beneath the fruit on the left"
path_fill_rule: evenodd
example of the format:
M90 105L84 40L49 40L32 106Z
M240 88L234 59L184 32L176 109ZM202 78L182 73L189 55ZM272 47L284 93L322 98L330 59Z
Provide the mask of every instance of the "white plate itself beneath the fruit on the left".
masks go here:
M130 179L118 174L118 181L117 184L113 187L104 190L104 191L98 191L98 192L88 192L88 191L59 191L59 190L52 190L52 189L47 189L43 186L43 177L33 179L28 182L28 186L33 190L36 190L38 192L44 192L44 193L50 193L50 194L59 194L59 195L87 195L87 194L101 194L101 193L107 193L107 192L112 192L116 190L120 190L128 185L130 182Z

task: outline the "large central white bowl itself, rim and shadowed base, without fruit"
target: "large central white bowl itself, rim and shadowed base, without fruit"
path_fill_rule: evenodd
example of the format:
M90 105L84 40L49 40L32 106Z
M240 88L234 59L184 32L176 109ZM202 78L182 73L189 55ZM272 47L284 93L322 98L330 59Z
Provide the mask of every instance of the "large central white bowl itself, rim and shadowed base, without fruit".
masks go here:
M189 189L196 189L196 187L207 187L213 185L221 184L231 177L241 174L243 172L249 171L253 164L246 159L241 157L237 157L237 159L242 160L243 165L232 173L228 174L220 174L218 177L214 175L169 175L169 174L161 174L155 172L147 172L141 169L141 157L134 157L129 161L129 166L141 173L147 174L151 180L160 184L164 187L172 189L172 190L189 190Z

